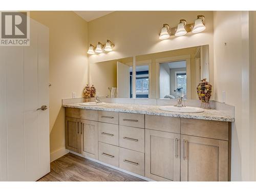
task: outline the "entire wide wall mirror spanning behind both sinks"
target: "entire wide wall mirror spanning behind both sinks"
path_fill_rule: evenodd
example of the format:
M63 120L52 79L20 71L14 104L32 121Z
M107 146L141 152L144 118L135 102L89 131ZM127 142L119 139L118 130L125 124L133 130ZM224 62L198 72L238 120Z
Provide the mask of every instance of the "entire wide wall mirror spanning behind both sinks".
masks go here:
M108 97L175 99L178 90L198 99L203 78L209 80L208 45L90 64L90 84Z

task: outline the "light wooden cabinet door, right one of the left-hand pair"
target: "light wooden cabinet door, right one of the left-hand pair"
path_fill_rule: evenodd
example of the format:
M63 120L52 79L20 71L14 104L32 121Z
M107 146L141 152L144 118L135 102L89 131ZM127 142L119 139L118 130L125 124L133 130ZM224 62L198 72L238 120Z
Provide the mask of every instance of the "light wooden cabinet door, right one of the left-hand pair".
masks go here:
M98 159L98 122L81 119L81 154Z

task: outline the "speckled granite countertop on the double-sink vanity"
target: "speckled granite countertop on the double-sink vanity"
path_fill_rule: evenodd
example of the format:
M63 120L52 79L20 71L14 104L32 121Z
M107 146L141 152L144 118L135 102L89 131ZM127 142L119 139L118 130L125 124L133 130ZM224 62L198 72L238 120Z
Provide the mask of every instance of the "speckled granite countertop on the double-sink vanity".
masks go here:
M77 108L77 109L87 109L87 110L99 110L99 111L113 111L113 112L124 112L124 113L137 113L146 115L160 115L169 117L180 117L180 118L190 118L190 119L205 119L205 120L215 120L215 121L228 121L234 122L234 118L226 115L217 110L205 109L202 113L176 113L162 111L159 109L158 105L138 105L138 104L119 104L119 103L106 103L104 105L98 106L84 106L75 104L63 104L66 108Z

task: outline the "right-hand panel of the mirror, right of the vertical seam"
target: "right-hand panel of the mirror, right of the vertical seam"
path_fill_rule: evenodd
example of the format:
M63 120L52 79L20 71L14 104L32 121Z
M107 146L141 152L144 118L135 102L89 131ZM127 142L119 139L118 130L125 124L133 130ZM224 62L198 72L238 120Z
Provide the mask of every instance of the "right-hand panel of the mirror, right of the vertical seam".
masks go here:
M208 49L204 45L136 56L136 98L175 99L179 90L187 99L198 99L200 79L209 79ZM143 81L141 73L147 74Z

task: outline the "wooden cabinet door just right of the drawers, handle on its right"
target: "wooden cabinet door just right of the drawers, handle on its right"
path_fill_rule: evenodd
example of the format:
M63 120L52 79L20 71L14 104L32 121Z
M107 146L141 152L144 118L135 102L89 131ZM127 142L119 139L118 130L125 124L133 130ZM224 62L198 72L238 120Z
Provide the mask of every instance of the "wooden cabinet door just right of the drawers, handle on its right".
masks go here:
M180 181L180 134L145 130L145 177Z

